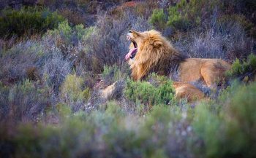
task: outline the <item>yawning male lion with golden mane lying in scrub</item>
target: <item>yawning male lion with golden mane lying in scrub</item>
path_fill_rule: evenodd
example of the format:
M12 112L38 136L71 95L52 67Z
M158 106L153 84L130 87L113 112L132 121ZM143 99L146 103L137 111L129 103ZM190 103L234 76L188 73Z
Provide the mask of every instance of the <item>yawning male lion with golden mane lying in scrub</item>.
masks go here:
M126 55L132 69L132 78L140 80L149 73L169 75L178 70L179 82L189 83L202 80L208 87L224 79L230 64L221 59L186 58L158 31L129 31L127 39L132 48Z

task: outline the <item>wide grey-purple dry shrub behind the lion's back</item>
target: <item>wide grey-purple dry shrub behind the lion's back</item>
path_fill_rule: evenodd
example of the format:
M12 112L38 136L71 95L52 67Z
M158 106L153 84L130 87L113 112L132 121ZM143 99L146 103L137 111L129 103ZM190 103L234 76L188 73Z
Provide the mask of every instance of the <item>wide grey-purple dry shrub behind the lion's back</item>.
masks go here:
M222 58L232 62L253 52L254 40L238 23L216 24L206 31L190 31L179 36L176 47L191 58Z

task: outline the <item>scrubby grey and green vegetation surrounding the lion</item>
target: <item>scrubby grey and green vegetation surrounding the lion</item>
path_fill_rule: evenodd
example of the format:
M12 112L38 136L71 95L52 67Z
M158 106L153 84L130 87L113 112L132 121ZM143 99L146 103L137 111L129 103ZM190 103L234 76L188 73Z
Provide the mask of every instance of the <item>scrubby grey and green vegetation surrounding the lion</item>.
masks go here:
M0 157L256 157L254 1L0 8ZM129 78L126 34L152 28L188 57L232 64L214 97L187 103L168 76Z

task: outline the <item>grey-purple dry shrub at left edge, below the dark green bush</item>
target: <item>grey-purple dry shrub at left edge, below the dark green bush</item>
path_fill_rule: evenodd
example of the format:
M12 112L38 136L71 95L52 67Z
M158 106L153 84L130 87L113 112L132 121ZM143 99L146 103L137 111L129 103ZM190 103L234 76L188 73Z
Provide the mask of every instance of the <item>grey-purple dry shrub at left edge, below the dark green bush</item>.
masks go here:
M41 66L41 53L42 47L33 41L21 42L10 50L1 51L0 80L4 84L13 84L26 79L29 68L39 68Z

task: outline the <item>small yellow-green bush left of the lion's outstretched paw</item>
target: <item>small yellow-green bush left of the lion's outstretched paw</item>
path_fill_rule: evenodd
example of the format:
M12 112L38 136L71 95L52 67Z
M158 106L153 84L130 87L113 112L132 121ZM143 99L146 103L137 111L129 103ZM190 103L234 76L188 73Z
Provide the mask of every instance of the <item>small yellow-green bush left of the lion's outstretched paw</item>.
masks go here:
M83 88L84 81L80 76L69 74L61 86L61 97L67 103L77 100L88 100L90 97L89 88Z

